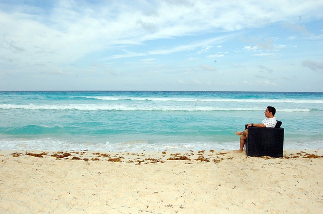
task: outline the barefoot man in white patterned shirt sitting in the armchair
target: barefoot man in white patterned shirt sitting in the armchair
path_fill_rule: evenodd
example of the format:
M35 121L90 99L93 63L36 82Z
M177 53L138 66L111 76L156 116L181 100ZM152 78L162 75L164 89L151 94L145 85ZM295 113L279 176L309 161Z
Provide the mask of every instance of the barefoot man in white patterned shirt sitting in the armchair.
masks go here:
M254 126L254 127L268 127L268 128L274 128L276 126L277 120L275 117L276 109L272 106L267 106L266 110L264 111L264 116L266 119L262 120L261 123L250 123L247 125L247 129L244 131L237 131L236 135L240 135L240 149L238 150L238 153L243 152L243 147L246 144L246 138L248 137L248 127Z

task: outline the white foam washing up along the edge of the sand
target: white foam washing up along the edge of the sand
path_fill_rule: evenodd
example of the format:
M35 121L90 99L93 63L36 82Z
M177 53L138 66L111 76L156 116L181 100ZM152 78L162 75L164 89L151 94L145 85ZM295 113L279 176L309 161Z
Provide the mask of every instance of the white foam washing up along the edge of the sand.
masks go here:
M41 139L1 139L0 150L48 150L48 151L198 151L198 150L237 150L238 141L230 142L173 142L154 143L147 141L128 141L119 143L106 142L94 144L91 142L71 142L68 140L41 138ZM286 149L322 149L323 141L291 141L285 139Z

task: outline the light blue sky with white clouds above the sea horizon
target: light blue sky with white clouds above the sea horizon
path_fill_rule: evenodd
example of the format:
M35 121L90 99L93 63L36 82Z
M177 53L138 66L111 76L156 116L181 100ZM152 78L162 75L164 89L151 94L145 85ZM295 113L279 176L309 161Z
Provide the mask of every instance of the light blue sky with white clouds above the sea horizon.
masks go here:
M323 1L0 0L0 90L323 92Z

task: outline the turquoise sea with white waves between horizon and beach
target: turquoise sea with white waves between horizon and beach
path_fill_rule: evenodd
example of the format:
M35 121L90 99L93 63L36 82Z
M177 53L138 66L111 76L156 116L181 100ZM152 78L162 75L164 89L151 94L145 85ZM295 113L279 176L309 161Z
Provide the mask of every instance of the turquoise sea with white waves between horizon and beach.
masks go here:
M284 149L323 148L323 93L33 91L0 92L0 149L233 150L266 106Z

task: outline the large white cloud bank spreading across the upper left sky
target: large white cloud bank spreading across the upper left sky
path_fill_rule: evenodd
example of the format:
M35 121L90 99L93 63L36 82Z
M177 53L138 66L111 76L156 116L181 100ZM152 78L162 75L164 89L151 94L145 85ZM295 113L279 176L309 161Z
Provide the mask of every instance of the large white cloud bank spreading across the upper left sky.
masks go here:
M248 1L234 3L234 10L231 3L210 3L193 0L130 3L55 1L53 8L28 8L25 5L17 7L16 11L14 8L8 12L2 10L2 37L11 44L11 49L2 49L1 53L16 56L15 51L28 50L28 54L23 55L26 60L34 57L43 61L44 58L55 56L56 61L64 63L94 51L109 50L116 45L136 45L214 29L230 32L259 27L290 16L284 7L274 7L274 2L267 5L267 8L275 8L271 13L264 11L261 4ZM302 14L302 8L297 10ZM266 18L263 18L263 14L266 14ZM45 54L40 53L36 45L46 49ZM150 50L149 54L169 54L198 46L203 44Z

